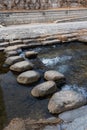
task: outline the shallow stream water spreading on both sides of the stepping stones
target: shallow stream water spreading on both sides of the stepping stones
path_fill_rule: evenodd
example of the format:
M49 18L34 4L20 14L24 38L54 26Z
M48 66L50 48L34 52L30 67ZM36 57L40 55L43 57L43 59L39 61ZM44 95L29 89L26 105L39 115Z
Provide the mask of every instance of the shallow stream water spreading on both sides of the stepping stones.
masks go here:
M39 59L33 61L41 75L48 68L62 72L66 77L66 84L61 87L62 90L74 89L87 96L87 45L70 43L38 47L33 50L39 52L40 60L47 67L45 68ZM31 89L44 79L33 85L20 85L16 81L17 74L3 67L4 60L4 54L0 53L0 89L2 89L0 106L3 108L3 112L0 109L0 113L2 112L4 117L2 124L14 117L40 119L52 116L47 110L49 97L37 99L30 93Z

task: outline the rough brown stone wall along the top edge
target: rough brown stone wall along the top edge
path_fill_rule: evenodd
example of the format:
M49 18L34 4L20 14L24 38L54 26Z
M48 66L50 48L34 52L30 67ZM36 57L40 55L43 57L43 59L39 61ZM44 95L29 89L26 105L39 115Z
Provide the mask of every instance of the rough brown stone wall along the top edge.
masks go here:
M0 0L0 10L36 10L86 5L87 0Z

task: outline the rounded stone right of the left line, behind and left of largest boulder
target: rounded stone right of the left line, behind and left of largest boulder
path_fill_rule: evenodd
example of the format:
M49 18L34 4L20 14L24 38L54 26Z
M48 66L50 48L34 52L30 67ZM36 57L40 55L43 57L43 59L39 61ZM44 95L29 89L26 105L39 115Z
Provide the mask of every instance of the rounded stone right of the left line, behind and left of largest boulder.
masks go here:
M58 71L54 71L54 70L49 70L46 71L44 74L44 78L46 80L53 80L53 81L60 81L61 79L65 79L64 75L59 73Z

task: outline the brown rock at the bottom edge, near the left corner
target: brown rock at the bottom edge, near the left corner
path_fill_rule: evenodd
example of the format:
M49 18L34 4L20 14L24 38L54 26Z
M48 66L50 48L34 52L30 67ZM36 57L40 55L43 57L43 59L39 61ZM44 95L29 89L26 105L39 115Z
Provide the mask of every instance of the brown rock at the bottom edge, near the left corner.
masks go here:
M15 118L4 130L26 130L24 120Z

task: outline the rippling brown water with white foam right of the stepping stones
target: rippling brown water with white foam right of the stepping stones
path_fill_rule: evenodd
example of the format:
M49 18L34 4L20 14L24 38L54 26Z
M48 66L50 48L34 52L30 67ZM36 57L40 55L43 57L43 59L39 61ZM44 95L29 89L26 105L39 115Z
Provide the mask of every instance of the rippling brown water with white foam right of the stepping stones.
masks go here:
M87 96L87 45L70 43L43 50L39 57L44 65L66 77L66 85L61 89L74 89Z

